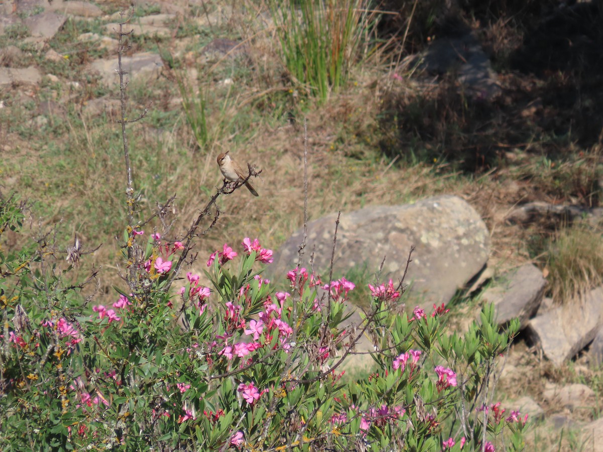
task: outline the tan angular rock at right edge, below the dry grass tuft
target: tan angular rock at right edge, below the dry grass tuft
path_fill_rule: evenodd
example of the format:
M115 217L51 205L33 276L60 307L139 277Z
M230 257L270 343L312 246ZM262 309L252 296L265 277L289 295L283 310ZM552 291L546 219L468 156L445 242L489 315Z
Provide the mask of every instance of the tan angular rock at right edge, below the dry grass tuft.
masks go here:
M602 315L603 287L598 287L579 303L560 306L531 319L526 332L549 360L561 366L595 339Z

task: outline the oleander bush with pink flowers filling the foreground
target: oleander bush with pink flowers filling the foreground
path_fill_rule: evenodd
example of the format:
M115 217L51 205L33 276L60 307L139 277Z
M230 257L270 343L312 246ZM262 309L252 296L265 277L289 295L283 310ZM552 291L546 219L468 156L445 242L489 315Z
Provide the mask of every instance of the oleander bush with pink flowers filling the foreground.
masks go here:
M19 204L1 209L19 233ZM248 238L209 257L210 287L188 272L166 291L183 243L133 236L140 291L112 306L83 297L93 278L66 282L77 246L1 251L2 450L522 450L525 418L493 403L517 323L499 332L491 306L451 333L443 306L407 314L389 281L349 324L352 282L295 268L275 293L272 252ZM365 334L376 371L342 379Z

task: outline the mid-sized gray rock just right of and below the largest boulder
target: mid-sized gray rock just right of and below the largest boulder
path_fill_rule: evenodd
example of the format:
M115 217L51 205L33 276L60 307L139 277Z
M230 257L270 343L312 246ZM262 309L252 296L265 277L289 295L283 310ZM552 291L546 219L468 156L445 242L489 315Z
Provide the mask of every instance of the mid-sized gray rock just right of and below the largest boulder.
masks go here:
M526 264L497 278L494 286L482 294L482 300L494 303L499 325L518 318L523 329L537 312L545 288L542 272L537 266Z

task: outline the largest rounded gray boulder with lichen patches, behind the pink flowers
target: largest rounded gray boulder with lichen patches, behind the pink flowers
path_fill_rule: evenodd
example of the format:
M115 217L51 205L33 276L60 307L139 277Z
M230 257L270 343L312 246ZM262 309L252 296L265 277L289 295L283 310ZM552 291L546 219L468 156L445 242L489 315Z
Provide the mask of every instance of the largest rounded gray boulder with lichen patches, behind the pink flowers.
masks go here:
M328 275L336 214L308 224L303 266ZM271 274L294 267L303 228L292 234L275 253ZM406 283L412 283L412 302L423 307L447 303L483 267L490 251L490 234L479 214L464 199L444 195L403 206L378 206L344 213L337 233L334 274L367 266L378 271L386 257L382 281L399 280L411 245L415 245Z

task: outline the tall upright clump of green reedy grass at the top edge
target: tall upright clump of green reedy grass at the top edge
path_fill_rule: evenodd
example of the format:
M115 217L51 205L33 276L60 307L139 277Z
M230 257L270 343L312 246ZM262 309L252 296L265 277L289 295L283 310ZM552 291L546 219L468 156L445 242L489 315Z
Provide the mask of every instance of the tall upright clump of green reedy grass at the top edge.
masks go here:
M285 66L321 103L346 82L370 33L366 6L365 0L270 0Z

